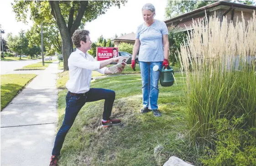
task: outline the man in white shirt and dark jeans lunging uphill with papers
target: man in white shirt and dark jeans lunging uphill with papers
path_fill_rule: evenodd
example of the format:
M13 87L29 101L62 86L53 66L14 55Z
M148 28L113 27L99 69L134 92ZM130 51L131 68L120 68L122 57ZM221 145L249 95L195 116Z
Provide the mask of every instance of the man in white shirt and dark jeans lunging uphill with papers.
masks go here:
M92 70L97 70L102 74L112 74L105 66L112 62L118 62L120 58L115 57L102 61L94 60L93 56L87 53L91 49L92 43L88 30L76 30L72 40L76 46L76 51L72 52L68 58L69 80L66 84L68 94L66 96L65 117L55 139L50 166L57 166L58 156L65 136L85 102L105 100L103 119L101 121L103 127L118 125L121 122L119 119L110 118L115 101L115 91L90 88ZM124 66L119 69L119 72L122 72L123 69Z

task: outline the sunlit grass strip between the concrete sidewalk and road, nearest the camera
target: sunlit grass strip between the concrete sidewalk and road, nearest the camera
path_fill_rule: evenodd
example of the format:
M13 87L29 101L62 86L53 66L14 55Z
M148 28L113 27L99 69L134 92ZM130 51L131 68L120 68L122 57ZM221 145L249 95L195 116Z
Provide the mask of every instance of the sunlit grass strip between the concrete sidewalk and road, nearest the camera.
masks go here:
M1 75L1 111L35 76L35 74Z

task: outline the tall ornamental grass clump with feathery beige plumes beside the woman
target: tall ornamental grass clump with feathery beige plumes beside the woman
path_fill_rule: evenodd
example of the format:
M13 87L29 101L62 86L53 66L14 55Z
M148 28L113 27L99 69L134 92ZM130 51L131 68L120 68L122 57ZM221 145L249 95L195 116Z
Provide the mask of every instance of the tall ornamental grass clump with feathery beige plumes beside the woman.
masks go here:
M241 15L234 23L215 14L193 20L178 52L190 136L204 145L214 142L218 119L242 116L237 127L256 127L256 15L247 24Z

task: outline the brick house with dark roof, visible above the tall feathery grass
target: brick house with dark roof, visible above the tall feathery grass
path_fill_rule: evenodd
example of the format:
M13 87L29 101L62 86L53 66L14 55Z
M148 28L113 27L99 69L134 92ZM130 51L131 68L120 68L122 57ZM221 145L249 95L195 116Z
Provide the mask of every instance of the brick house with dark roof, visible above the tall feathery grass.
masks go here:
M206 5L183 15L179 15L172 19L165 20L164 22L166 23L168 28L174 26L179 27L179 29L181 30L189 30L190 25L192 25L193 23L193 20L198 20L205 17L205 11L208 15L208 18L209 15L214 15L215 13L216 17L218 17L220 20L222 20L224 16L227 16L228 22L230 22L230 20L233 20L233 23L235 23L237 19L238 21L242 20L242 11L245 22L247 24L247 20L251 19L252 17L253 10L256 10L256 6L237 4L227 1L217 1L213 4Z

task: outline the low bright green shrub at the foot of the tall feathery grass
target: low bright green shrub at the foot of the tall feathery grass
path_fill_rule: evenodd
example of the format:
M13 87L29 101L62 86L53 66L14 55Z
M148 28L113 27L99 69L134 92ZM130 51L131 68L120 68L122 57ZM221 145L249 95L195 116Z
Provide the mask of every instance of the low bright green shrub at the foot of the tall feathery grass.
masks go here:
M201 158L205 166L256 166L256 138L252 134L256 128L237 129L242 121L243 117L233 117L214 122L216 146L214 150L206 148Z

